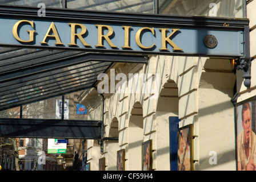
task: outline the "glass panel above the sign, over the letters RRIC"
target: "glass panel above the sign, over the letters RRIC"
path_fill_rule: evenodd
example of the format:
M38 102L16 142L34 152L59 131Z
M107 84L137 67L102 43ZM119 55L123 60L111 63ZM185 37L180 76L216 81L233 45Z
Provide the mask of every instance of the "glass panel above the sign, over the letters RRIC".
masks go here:
M67 0L67 8L130 13L154 13L155 0Z

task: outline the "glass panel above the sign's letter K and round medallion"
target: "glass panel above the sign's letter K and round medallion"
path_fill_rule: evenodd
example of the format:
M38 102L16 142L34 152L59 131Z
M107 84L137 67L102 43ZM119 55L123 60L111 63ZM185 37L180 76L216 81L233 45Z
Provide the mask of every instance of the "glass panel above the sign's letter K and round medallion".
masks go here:
M158 0L159 14L246 18L243 0Z

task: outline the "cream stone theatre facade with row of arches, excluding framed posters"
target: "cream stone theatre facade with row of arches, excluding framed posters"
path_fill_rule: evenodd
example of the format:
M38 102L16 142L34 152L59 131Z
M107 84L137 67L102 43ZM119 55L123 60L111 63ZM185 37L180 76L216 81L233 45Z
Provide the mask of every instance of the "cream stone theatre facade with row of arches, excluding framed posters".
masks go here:
M255 57L255 3L247 2L251 57ZM173 9L178 7L177 3ZM170 137L171 126L177 122L175 117L179 128L193 126L193 148L190 148L193 161L190 162L194 170L236 170L237 117L235 104L231 101L237 95L236 104L255 96L254 67L251 61L251 85L246 88L242 71L234 73L230 59L151 55L148 65L115 64L115 74L125 73L127 82L129 73L150 73L147 81L153 80L156 88L151 93L131 93L123 84L124 88L119 89L124 92L103 94L103 101L95 89L87 91L86 96L91 94L90 98L94 98L89 104L89 117L101 118L103 111L106 137L102 140L103 145L98 140L88 141L87 161L91 170L99 169L100 159L105 160L106 170L117 170L117 153L123 149L125 170L141 171L142 144L148 140L152 141L151 169L177 170L178 167L172 164L177 158L170 154L172 148L177 148L177 142ZM118 81L115 80L115 86ZM136 81L132 84L141 80ZM142 80L139 84L147 81ZM154 94L157 97L150 99ZM86 104L87 97L81 97L80 101Z

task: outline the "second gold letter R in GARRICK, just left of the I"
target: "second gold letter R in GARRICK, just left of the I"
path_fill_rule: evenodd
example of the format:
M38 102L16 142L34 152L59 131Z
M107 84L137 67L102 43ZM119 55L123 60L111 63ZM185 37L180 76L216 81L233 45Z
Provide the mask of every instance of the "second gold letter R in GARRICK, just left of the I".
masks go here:
M117 47L109 39L109 36L111 36L114 32L112 27L101 24L95 24L95 26L98 27L98 44L96 45L96 47L105 47L104 45L102 45L102 38L104 38L111 47ZM109 31L106 35L102 35L102 27L107 28L107 30Z

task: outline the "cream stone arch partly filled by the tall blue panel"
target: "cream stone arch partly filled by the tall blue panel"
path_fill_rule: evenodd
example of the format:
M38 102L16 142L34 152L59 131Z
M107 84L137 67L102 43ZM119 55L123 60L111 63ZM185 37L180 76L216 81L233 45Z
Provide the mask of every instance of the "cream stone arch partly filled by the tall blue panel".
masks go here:
M170 144L177 147L177 140L174 139L175 143L170 143L170 126L177 129L178 102L178 86L173 80L169 79L163 84L157 102L157 150L155 151L157 153L157 164L159 164L157 170L170 170ZM176 120L170 120L170 117L174 117ZM173 132L175 134L175 131Z

